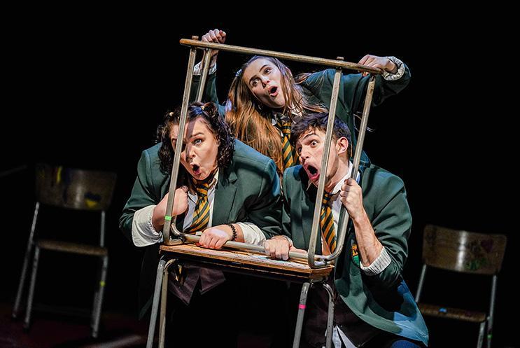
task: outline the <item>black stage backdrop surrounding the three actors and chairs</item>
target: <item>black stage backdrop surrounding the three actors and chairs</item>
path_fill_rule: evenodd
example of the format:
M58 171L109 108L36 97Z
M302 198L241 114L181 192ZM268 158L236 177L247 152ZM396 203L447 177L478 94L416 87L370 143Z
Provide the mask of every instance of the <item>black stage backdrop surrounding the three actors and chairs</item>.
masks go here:
M117 172L108 211L111 259L104 309L136 314L141 250L122 236L118 217L141 151L153 145L164 112L181 102L188 48L178 40L218 27L232 45L342 56L349 62L367 53L395 55L410 67L409 86L372 109L369 125L375 131L365 139L372 162L398 174L407 186L414 226L405 279L415 293L422 230L428 223L507 235L493 340L496 347L518 344L515 321L507 321L519 310L513 286L519 237L512 219L517 206L512 117L517 112L507 110L516 99L507 95L504 78L513 65L501 42L507 28L486 27L475 18L471 25L462 25L460 13L426 20L428 9L407 20L374 20L374 27L365 15L345 15L339 22L325 15L285 20L272 15L272 6L264 6L258 4L251 15L197 15L189 23L183 23L181 13L149 15L134 9L131 14L82 16L72 11L64 18L24 18L6 28L1 170L20 165L27 169L0 178L0 300L15 298L34 209L34 163L51 162ZM220 100L246 59L220 53ZM319 69L286 63L295 74ZM46 220L42 214L42 227L47 223L56 230L58 223L65 223L62 235L97 240L97 232L87 230L88 216L68 220L51 213ZM95 276L90 259L44 254L41 260L36 300L90 306ZM432 275L425 296L438 293L449 305L488 305L491 280ZM474 345L477 326L427 322L434 344L442 347L449 337Z

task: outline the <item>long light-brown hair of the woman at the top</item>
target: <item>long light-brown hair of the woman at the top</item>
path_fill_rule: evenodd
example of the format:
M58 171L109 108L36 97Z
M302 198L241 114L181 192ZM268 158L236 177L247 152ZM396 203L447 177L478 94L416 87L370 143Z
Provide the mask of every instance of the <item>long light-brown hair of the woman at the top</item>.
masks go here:
M272 125L272 109L259 102L244 81L244 70L260 58L272 62L281 72L280 87L286 100L281 113L292 118L293 112L303 114L307 111L327 112L328 110L323 105L309 103L308 97L300 86L304 78L296 82L290 69L276 58L255 55L242 65L227 94L227 123L237 139L272 158L281 174L283 173L282 144L279 130Z

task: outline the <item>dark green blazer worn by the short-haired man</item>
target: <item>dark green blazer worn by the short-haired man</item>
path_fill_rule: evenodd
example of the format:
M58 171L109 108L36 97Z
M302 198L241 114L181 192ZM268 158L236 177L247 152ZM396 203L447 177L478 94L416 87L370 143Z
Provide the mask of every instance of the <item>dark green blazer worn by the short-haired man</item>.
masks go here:
M374 165L360 169L363 205L391 263L383 272L367 276L353 258L356 234L349 224L343 251L335 266L337 292L352 312L366 323L428 344L428 329L402 279L412 225L404 183L398 176ZM308 183L301 165L283 173L282 191L286 200L282 209L282 232L293 239L299 249L309 248L316 202L316 187L313 185L307 190ZM318 239L316 250L321 253L321 239Z

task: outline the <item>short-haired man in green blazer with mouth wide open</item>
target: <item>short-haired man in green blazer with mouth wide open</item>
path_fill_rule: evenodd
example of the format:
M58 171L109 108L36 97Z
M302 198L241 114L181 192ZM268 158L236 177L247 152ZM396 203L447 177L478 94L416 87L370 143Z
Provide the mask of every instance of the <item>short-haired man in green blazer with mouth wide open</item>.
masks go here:
M300 163L283 173L283 236L265 242L267 253L281 259L288 251L307 250L316 201L316 187L328 114L304 116L291 130ZM351 217L342 254L331 285L337 291L334 339L342 347L421 347L428 330L405 281L402 267L408 253L412 216L405 186L398 176L370 165L351 176L349 128L335 118L328 162L328 181L321 208L317 253L336 249L342 205ZM311 291L312 292L312 291ZM311 347L325 342L327 302L323 293L309 293L304 336ZM407 341L407 342L405 342ZM388 345L385 345L388 344ZM394 344L394 345L390 345Z

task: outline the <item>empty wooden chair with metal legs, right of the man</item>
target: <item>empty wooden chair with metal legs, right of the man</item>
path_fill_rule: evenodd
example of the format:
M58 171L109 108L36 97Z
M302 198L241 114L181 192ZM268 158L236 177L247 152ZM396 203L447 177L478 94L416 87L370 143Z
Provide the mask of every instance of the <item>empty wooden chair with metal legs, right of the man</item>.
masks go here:
M507 237L505 235L487 235L427 225L423 234L423 268L415 298L421 313L437 318L479 323L477 347L482 347L484 331L487 332L487 347L491 347L496 286L506 242ZM451 272L492 276L489 310L487 312L475 312L420 302L428 266Z

